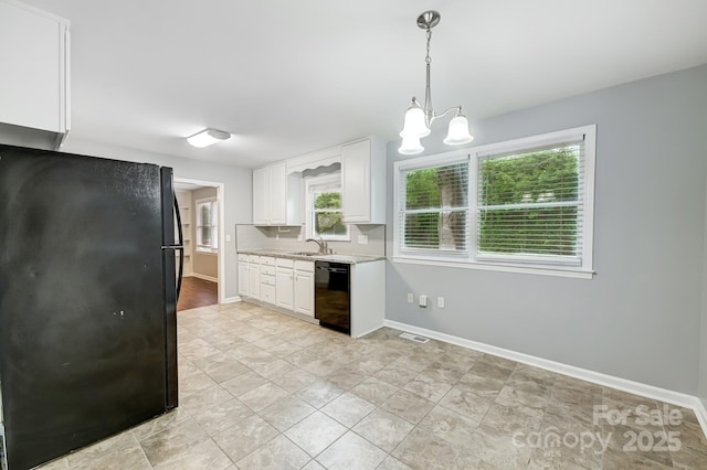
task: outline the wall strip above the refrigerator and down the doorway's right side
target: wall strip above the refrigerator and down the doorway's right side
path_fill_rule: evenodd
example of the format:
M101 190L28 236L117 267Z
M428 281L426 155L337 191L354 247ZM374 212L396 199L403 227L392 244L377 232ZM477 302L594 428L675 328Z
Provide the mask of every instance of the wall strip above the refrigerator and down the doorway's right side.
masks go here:
M212 181L224 184L223 204L225 210L225 234L231 235L231 243L225 243L225 279L219 279L221 288L225 288L225 298L238 296L238 268L235 256L235 224L251 223L253 220L253 172L251 169L207 163L196 159L172 157L149 151L105 146L97 142L66 140L62 151L83 153L127 160L156 163L175 169L176 178Z

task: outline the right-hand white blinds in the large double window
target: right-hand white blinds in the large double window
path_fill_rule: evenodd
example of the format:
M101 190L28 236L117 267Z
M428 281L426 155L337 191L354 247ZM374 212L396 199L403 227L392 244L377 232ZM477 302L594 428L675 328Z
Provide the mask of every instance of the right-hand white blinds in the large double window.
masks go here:
M479 157L477 259L580 265L583 165L583 136Z

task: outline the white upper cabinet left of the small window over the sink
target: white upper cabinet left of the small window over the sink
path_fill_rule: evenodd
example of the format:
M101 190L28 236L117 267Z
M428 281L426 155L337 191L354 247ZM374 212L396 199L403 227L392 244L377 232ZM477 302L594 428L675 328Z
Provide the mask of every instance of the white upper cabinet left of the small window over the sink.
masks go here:
M299 182L285 162L253 170L253 224L299 225Z

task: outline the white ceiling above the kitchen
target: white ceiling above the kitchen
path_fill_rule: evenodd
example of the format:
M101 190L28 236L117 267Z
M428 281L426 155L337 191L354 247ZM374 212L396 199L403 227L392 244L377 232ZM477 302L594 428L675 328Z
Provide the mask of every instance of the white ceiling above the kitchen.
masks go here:
M72 22L68 139L256 167L398 138L432 95L469 122L707 63L705 0L24 0ZM442 125L437 125L442 126ZM207 149L204 127L234 138Z

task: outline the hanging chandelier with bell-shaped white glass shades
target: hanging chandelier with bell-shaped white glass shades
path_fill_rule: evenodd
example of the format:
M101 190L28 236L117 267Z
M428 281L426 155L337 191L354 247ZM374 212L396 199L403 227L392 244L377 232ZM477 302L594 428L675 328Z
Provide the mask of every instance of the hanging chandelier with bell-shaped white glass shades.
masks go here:
M454 117L450 121L450 129L446 138L444 139L444 143L458 146L474 140L472 135L468 133L468 121L462 114L461 106L449 108L441 115L436 115L434 109L432 109L432 94L430 92L430 64L432 63L432 58L430 57L430 40L432 39L432 28L436 26L439 23L440 13L434 10L425 11L418 17L418 28L426 30L428 32L428 55L424 58L428 67L428 81L424 88L424 108L420 106L420 103L413 96L412 105L405 113L403 129L400 132L400 137L402 137L402 145L398 149L402 154L412 156L422 152L424 147L420 143L420 139L430 135L430 127L435 119L441 118L451 111L454 111Z

